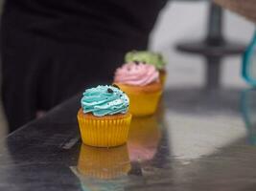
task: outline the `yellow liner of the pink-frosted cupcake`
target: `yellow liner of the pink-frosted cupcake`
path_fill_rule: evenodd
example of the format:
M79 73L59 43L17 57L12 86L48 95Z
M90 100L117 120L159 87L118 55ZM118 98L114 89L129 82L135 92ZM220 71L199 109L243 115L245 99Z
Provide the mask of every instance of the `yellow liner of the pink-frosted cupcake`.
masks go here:
M129 97L129 112L135 117L150 116L155 113L161 91L155 93L134 93L126 90Z

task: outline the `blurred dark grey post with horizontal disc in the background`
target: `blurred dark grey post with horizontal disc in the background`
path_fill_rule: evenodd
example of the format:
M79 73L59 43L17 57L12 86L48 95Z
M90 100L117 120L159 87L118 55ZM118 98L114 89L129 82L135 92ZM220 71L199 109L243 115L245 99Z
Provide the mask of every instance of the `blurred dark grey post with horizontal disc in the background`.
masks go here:
M203 55L206 59L206 88L220 87L221 58L226 55L244 53L245 46L240 43L227 42L222 35L222 9L210 3L207 35L197 42L182 42L176 46L177 51Z

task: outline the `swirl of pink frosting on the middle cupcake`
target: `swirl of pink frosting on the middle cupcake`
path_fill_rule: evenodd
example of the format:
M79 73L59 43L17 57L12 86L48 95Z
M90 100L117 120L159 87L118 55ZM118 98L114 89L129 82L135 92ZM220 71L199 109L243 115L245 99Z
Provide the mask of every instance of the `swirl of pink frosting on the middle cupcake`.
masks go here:
M150 64L130 62L118 68L114 81L135 86L146 86L159 80L159 72Z

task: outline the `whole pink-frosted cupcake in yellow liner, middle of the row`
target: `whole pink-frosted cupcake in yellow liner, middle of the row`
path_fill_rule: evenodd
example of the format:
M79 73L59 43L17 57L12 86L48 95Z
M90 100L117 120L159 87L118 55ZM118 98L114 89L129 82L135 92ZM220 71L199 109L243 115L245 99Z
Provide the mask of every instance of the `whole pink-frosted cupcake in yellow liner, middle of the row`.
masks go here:
M134 116L152 115L162 94L158 71L149 64L130 62L117 69L114 83L128 94Z

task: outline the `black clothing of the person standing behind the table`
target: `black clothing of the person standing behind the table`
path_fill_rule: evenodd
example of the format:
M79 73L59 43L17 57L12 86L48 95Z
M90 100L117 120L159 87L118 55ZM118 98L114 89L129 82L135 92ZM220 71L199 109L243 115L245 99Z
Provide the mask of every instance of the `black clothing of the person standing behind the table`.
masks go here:
M7 0L1 24L4 109L11 131L92 84L110 83L147 48L165 0Z

